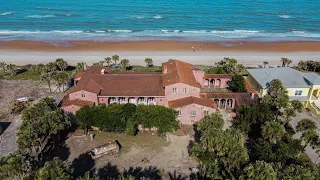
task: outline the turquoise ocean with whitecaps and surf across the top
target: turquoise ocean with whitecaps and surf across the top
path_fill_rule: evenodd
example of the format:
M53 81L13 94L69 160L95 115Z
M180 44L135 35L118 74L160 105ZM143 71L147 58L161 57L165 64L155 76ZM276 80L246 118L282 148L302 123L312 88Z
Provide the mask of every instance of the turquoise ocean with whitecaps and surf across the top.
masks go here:
M320 0L0 0L0 41L320 40Z

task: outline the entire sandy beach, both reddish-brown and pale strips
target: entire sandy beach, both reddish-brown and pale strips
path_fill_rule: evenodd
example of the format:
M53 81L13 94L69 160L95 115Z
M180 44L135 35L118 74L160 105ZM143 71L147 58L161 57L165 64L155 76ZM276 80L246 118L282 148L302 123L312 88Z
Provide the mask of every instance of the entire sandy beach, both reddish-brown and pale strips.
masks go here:
M282 57L293 64L300 60L320 61L320 42L182 42L182 41L127 41L127 42L0 42L0 61L15 64L37 64L64 58L69 64L92 64L113 54L129 59L132 65L145 65L151 57L155 65L168 59L180 59L192 64L214 65L224 57L235 58L244 65L280 65Z

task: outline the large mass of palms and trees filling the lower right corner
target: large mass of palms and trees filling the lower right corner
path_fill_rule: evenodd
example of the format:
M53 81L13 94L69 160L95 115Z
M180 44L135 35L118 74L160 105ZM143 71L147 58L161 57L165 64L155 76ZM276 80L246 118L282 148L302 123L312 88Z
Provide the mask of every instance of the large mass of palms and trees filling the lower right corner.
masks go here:
M299 101L289 102L281 82L273 80L261 101L240 106L230 129L222 129L217 114L201 120L191 148L200 161L199 178L319 179L319 166L304 154L307 144L320 145L314 122L300 121L296 129L304 135L292 136L289 121L301 109Z

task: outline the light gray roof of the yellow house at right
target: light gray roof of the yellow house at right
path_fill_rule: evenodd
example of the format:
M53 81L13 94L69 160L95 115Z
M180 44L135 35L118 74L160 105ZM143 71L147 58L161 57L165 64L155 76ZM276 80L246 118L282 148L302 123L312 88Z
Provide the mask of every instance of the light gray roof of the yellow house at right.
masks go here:
M320 84L319 75L303 73L289 67L247 69L247 71L263 88L266 88L274 79L279 79L286 88L303 88Z

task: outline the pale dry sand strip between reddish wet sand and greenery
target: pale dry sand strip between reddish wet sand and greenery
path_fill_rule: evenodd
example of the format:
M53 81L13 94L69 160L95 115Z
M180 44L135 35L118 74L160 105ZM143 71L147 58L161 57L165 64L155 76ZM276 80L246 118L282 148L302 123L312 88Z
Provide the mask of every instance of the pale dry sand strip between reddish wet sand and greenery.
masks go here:
M118 54L120 59L128 59L131 65L143 65L144 59L150 57L154 65L161 65L168 59L179 59L194 65L215 65L215 62L224 57L235 58L238 63L245 66L263 65L263 61L268 61L270 66L281 65L280 59L286 57L292 60L292 64L297 64L300 60L320 61L320 52L186 52L186 51L78 51L78 52L41 52L41 51L8 51L0 50L0 62L13 63L17 65L39 64L55 61L63 58L70 65L77 62L85 62L91 65L95 62L103 61L105 57Z

